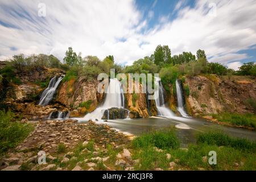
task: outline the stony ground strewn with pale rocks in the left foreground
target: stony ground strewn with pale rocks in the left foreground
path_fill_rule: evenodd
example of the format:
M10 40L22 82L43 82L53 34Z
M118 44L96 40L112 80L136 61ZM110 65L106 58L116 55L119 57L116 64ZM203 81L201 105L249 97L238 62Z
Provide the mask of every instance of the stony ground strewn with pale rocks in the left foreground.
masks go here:
M0 159L1 170L114 170L132 169L130 164L136 163L130 151L123 148L131 136L108 125L79 124L72 119L35 125L15 151ZM39 151L46 152L47 164L38 164Z

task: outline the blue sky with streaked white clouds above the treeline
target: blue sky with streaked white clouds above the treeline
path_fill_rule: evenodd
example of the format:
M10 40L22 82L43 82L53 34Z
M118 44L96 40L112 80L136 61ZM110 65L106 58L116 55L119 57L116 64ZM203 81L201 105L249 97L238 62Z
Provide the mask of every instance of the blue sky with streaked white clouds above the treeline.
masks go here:
M113 55L131 65L168 45L172 55L204 49L238 69L256 61L256 0L0 0L0 60L24 53L63 60Z

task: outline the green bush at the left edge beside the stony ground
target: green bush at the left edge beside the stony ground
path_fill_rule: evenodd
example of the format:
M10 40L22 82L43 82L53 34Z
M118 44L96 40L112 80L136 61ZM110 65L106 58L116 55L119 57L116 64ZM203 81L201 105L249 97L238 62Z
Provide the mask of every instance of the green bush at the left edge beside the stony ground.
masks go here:
M13 121L14 113L0 110L0 155L17 146L34 129L30 124Z

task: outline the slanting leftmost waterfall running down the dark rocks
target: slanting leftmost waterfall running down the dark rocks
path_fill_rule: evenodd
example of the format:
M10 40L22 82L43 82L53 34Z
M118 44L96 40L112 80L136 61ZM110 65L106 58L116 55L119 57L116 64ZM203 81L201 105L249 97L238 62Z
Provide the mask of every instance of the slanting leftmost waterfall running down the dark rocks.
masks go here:
M63 79L63 77L57 78L56 76L51 79L49 82L48 87L44 90L42 93L42 96L40 97L39 105L46 106L51 102L57 86L60 84L60 81Z

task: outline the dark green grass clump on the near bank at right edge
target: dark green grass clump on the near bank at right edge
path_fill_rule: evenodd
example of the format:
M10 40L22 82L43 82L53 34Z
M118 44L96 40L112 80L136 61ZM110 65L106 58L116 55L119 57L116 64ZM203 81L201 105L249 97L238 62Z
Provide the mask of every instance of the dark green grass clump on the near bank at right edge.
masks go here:
M198 144L233 147L240 150L256 152L256 143L245 138L233 138L220 131L210 131L197 135Z

